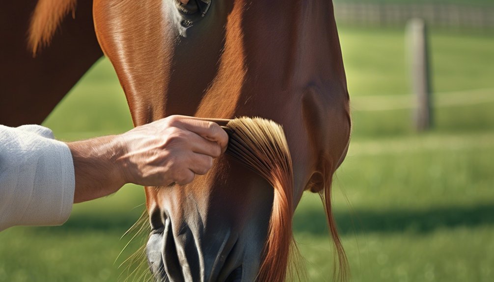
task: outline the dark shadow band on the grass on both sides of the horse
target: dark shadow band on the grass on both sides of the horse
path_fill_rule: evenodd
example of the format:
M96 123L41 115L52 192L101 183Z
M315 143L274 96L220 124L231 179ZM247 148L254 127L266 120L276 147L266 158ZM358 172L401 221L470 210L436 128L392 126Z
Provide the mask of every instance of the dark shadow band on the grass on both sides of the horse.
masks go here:
M371 232L427 233L439 228L474 227L494 224L494 205L473 207L445 207L429 210L355 210L335 212L341 235ZM62 226L36 227L47 232L101 231L123 234L139 218L138 214L75 214ZM147 233L148 229L145 229ZM308 208L297 211L293 219L295 232L326 236L326 217L323 209Z

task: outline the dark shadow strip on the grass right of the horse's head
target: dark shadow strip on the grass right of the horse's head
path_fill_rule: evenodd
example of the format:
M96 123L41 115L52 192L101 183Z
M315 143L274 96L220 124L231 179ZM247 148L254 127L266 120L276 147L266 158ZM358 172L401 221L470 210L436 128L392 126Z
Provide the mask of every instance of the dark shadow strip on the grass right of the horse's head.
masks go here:
M428 233L439 228L459 226L474 227L494 224L494 205L473 207L445 207L424 211L413 210L355 210L335 212L340 235L371 232ZM295 232L314 235L328 234L326 216L321 210L306 209L296 213L293 219Z

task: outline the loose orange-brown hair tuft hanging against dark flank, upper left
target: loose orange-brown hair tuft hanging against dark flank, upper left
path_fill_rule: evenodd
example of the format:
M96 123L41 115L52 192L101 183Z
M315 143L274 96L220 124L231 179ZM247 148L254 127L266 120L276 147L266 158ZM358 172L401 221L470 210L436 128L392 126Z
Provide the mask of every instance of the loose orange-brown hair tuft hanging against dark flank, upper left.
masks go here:
M33 55L50 43L69 12L75 17L76 4L77 0L38 0L28 33L28 46Z

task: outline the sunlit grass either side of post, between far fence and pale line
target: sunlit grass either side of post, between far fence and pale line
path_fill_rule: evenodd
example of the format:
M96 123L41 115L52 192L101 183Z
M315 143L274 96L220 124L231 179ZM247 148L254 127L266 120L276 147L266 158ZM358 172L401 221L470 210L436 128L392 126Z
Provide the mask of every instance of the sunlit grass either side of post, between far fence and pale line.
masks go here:
M402 29L340 28L350 95L410 93ZM434 92L493 88L494 37L432 30L430 57Z

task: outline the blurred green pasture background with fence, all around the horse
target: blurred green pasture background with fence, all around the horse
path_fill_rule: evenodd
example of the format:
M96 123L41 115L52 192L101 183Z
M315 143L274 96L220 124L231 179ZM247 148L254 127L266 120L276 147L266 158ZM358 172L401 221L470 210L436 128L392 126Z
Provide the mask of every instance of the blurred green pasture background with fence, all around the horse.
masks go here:
M336 173L333 203L353 281L493 281L493 1L334 5L353 133ZM420 35L409 33L416 30L411 18L427 24L426 44L412 42ZM417 54L412 46L426 46L428 73L412 70L422 60L411 55ZM417 89L429 94L418 99L429 102L426 130L415 123ZM130 114L110 63L101 59L43 125L64 141L129 130ZM144 211L144 201L142 187L127 185L116 195L75 205L63 226L1 232L0 281L124 281L132 269L119 265L143 238L117 258L131 239L121 236ZM307 281L331 281L332 248L317 195L302 198L294 233Z

